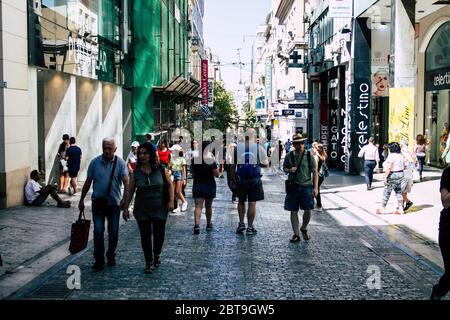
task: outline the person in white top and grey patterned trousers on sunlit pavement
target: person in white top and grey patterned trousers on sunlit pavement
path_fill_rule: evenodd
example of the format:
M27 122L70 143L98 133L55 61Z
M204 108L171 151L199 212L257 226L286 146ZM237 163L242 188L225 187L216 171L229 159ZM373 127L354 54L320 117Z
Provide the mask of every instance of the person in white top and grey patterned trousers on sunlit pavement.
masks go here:
M386 212L386 205L394 191L397 197L397 209L394 214L403 214L402 184L406 167L405 158L401 154L401 148L397 142L389 144L389 151L391 153L385 161L383 200L381 208L377 209L376 213L384 214Z

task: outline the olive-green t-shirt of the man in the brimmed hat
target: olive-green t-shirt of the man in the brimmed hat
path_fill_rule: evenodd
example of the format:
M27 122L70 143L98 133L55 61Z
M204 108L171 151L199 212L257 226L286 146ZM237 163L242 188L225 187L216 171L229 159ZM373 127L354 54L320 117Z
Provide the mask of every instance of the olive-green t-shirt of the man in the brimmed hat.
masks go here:
M284 168L292 168L292 167L298 167L298 164L300 163L300 159L302 159L302 163L300 164L300 167L297 170L297 174L295 173L289 173L289 179L294 181L294 183L303 186L303 187L310 187L313 185L312 181L312 174L314 172L314 169L316 168L316 159L311 155L311 172L309 171L309 165L308 165L308 154L306 152L309 152L307 150L304 151L305 155L302 158L302 154L297 155L295 151L289 152L286 157L284 158ZM293 155L293 156L292 156ZM294 158L294 161L292 161Z

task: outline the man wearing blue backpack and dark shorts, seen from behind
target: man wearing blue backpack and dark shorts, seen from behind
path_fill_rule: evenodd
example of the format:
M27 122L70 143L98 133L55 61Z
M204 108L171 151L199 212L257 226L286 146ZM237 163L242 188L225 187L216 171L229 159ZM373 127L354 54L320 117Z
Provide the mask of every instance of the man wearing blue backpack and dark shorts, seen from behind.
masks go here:
M236 186L236 194L239 198L238 234L253 235L256 229L253 221L256 215L256 202L264 200L264 189L261 181L261 167L269 167L269 160L264 148L255 142L255 131L248 131L245 143L240 143L235 148L234 163L231 170L231 181ZM248 201L247 228L245 227L245 203Z

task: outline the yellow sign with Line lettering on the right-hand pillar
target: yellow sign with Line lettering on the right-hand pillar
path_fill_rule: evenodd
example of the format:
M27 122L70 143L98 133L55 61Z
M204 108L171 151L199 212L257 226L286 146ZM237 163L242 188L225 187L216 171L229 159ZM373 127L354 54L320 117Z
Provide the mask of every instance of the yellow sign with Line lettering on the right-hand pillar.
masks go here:
M389 89L389 142L414 143L414 88Z

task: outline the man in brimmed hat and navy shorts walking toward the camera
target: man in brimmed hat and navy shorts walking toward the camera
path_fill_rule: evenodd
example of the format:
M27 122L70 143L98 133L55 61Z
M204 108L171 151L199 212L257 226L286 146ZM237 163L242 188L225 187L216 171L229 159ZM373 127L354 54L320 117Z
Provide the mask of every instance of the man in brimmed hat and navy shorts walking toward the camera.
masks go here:
M290 242L300 241L300 232L304 240L309 240L308 224L314 209L314 197L319 194L319 177L316 159L305 148L305 140L299 133L292 138L294 150L289 152L283 163L284 172L289 173L288 180L293 183L292 190L286 190L284 210L291 212L291 225L294 235ZM298 212L303 210L302 227Z

